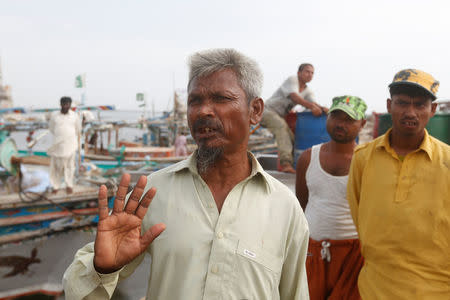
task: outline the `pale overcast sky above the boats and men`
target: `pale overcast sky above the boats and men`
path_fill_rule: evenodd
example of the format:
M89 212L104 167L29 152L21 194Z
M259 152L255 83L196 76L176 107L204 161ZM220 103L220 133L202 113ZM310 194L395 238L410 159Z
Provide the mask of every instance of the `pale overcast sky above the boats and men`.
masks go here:
M431 73L450 98L449 11L447 0L0 0L0 63L16 106L77 101L85 73L86 104L138 109L143 92L161 111L185 89L190 54L235 48L260 64L263 99L309 62L320 104L350 94L385 112L404 68Z

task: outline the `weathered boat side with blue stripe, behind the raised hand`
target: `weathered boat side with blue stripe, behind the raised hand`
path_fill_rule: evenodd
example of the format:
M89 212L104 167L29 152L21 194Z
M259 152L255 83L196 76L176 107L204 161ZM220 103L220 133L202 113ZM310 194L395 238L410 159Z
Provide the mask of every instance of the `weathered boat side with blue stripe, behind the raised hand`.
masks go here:
M108 196L114 192L110 189ZM76 185L71 194L60 190L56 194L2 195L0 245L95 224L97 196L98 187L82 185Z

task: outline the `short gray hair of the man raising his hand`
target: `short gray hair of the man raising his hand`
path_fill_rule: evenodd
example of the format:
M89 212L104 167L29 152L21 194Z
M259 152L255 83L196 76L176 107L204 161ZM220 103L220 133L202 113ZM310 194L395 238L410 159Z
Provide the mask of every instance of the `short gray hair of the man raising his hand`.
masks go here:
M236 74L239 85L249 102L261 96L263 75L258 63L234 49L210 49L196 52L190 57L188 65L188 90L197 77L231 69Z

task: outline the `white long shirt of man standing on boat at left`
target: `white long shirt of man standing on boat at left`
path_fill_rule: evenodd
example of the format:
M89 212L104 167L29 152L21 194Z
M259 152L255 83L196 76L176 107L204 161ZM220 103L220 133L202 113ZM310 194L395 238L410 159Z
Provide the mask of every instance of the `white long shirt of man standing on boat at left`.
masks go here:
M81 122L78 114L69 110L67 114L54 111L50 116L48 129L53 134L53 144L47 151L50 156L69 157L78 148Z

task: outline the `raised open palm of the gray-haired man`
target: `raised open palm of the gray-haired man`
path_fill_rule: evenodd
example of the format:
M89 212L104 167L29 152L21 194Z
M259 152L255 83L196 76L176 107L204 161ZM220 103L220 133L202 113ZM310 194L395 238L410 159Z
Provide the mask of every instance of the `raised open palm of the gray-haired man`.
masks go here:
M94 267L103 274L117 271L130 263L166 228L163 223L156 224L141 236L142 219L156 189L148 190L139 202L147 184L147 177L141 176L124 207L129 184L130 175L124 174L111 215L108 214L106 186L102 185L98 192L99 221L94 246Z

